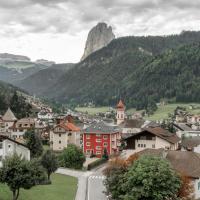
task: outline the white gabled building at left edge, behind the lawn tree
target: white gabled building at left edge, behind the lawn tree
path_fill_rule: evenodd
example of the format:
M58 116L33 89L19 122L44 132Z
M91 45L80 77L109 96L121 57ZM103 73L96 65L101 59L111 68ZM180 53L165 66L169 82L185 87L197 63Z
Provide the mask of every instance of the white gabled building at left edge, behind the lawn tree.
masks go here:
M2 166L2 160L14 153L21 155L26 160L30 160L30 150L25 145L0 135L0 167Z

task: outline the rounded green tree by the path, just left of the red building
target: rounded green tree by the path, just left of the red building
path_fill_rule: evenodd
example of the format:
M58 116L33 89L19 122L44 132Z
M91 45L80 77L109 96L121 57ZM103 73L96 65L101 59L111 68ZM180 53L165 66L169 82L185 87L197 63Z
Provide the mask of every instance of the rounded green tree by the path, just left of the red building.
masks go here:
M67 148L63 150L59 159L63 167L81 169L85 162L85 155L83 154L82 149L74 144L69 144Z

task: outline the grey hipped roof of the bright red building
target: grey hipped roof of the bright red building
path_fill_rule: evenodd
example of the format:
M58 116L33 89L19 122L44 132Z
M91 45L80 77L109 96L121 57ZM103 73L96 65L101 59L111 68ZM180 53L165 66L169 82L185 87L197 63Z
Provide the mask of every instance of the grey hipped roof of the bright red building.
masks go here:
M103 121L100 122L94 122L91 126L87 127L84 130L84 133L98 133L98 134L104 134L104 133L116 133L119 132L120 129L116 125L110 125Z

